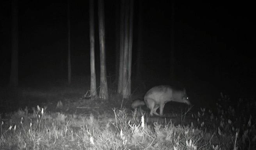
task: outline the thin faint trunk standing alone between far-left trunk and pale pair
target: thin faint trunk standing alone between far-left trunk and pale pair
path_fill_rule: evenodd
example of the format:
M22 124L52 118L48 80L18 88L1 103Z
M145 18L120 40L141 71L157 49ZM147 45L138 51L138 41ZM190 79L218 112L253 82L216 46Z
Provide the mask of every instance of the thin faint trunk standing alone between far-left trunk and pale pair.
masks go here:
M70 41L70 8L69 8L69 0L68 0L68 84L71 84L71 41Z

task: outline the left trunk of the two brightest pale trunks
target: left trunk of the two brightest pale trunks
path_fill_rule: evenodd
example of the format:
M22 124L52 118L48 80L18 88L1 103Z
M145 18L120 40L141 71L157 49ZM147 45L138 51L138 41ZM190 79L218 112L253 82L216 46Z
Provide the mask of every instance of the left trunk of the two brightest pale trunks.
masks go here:
M94 57L94 0L90 0L89 4L89 24L90 24L90 54L91 54L91 90L92 97L97 96L96 91L96 73L95 73L95 57Z

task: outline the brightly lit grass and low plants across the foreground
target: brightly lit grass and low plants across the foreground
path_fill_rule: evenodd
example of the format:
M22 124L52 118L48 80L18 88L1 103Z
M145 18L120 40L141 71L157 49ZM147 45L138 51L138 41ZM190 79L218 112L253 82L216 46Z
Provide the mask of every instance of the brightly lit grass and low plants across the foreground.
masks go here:
M174 125L166 119L149 124L148 111L142 109L119 107L98 115L77 115L37 106L32 113L25 108L0 116L0 149L254 150L255 107L255 101L234 103L220 94L214 109L187 109L176 115L181 123L188 117L195 122Z

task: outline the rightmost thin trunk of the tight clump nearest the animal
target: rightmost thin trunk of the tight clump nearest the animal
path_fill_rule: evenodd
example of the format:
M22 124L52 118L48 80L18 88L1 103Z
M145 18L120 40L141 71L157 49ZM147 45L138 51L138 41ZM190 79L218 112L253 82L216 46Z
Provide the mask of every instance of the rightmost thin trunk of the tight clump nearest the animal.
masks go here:
M130 22L129 22L129 56L128 56L128 96L131 95L132 84L132 43L133 43L133 0L130 0Z

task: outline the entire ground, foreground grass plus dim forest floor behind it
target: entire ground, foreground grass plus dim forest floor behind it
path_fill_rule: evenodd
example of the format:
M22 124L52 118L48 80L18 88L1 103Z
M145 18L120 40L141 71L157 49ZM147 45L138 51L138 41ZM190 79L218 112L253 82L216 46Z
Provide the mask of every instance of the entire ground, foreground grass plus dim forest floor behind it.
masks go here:
M130 107L133 100L143 99L143 88L134 90L130 99L110 88L109 100L103 101L88 97L89 82L84 80L69 86L36 85L0 89L0 149L256 148L253 99L235 103L199 86L188 93L192 108L168 102L164 116L158 117L149 116L146 106L135 111Z

